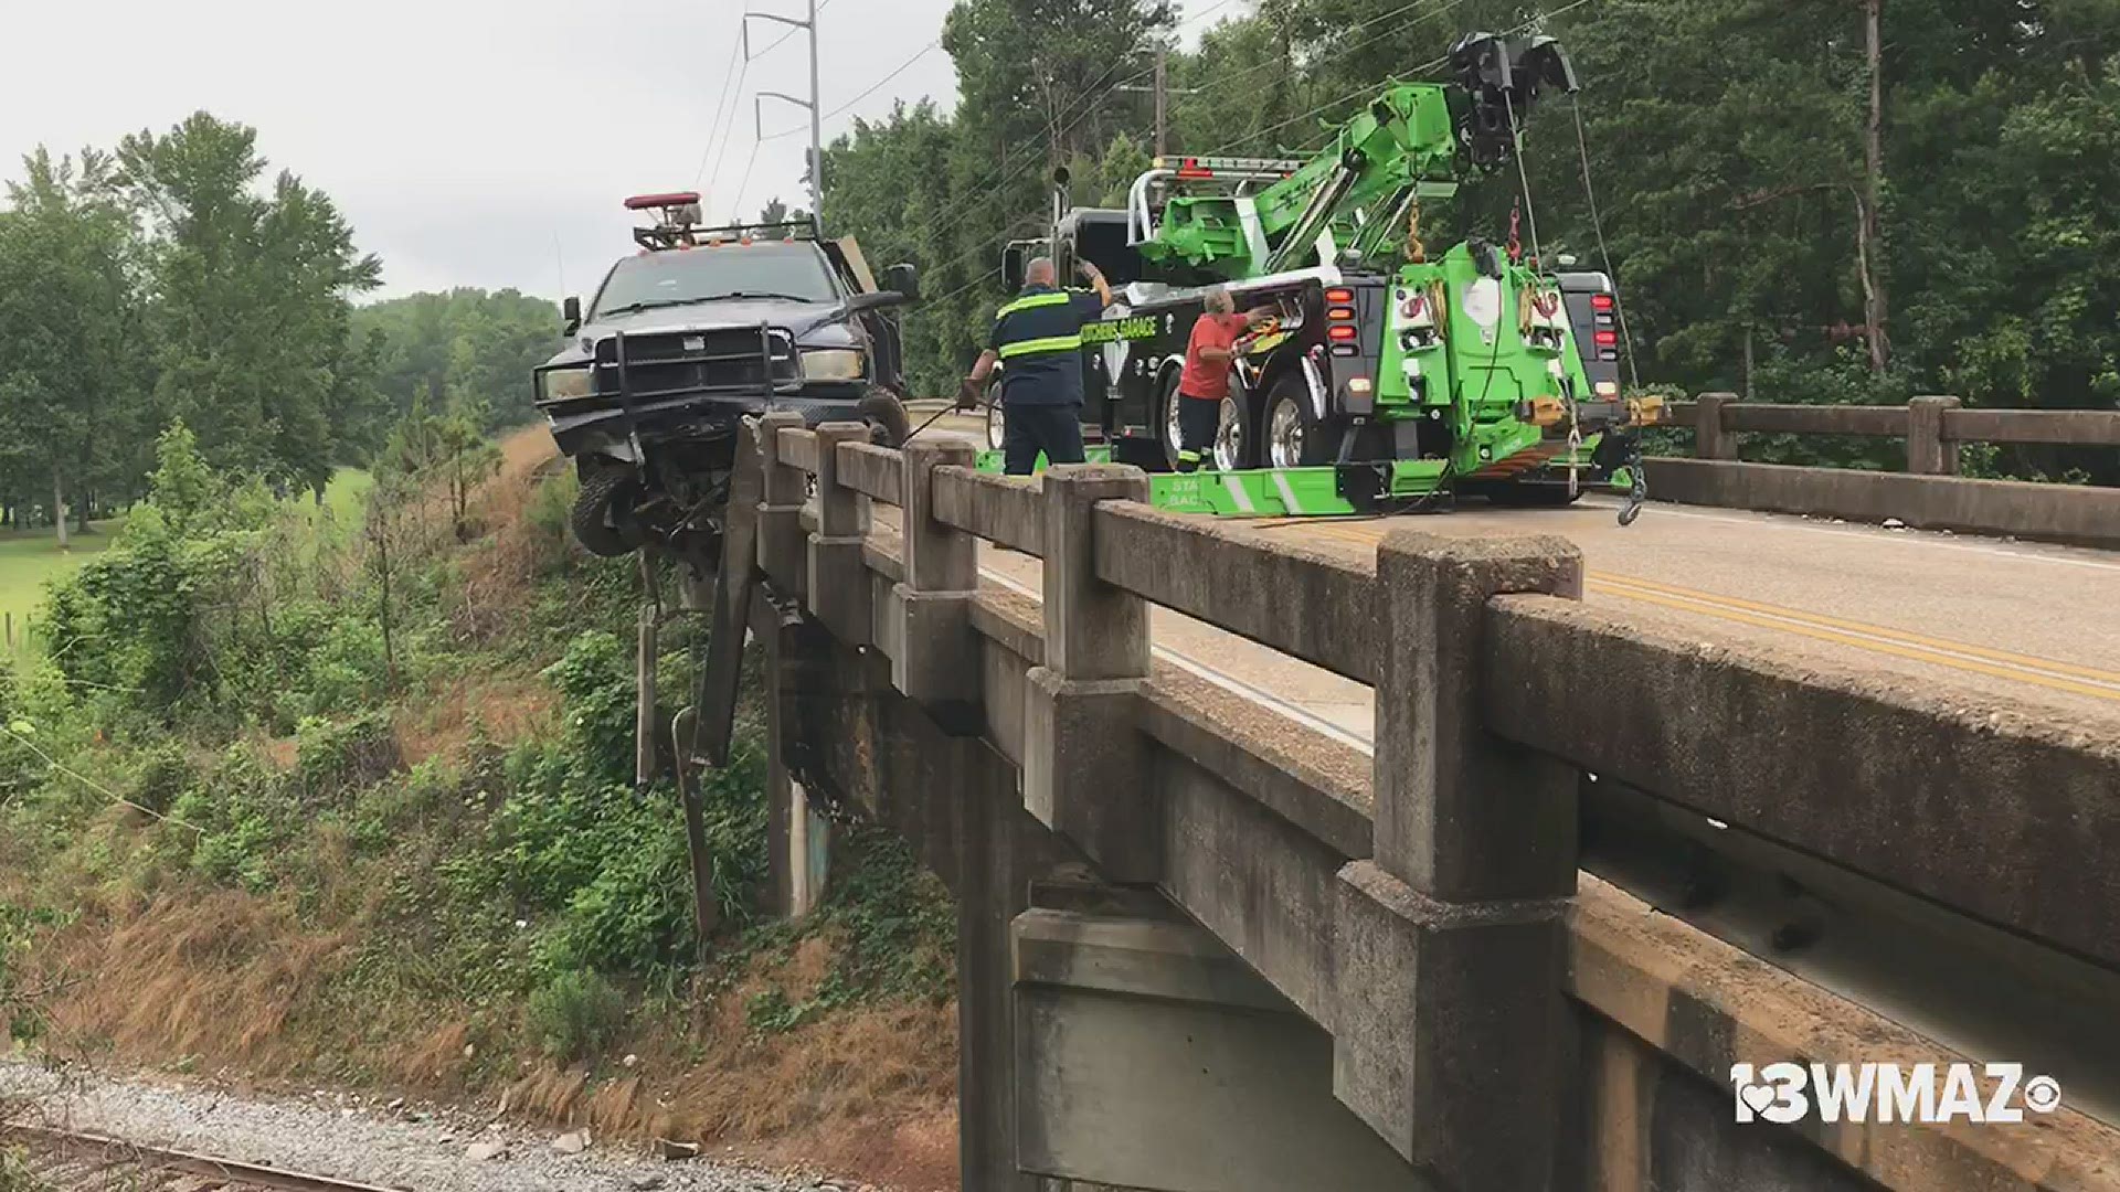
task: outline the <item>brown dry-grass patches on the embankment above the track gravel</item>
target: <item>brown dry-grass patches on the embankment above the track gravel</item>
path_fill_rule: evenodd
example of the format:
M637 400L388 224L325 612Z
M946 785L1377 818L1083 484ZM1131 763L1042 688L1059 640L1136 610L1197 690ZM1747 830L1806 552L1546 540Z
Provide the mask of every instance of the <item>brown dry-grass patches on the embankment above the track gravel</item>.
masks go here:
M485 532L458 560L456 632L500 641L536 598L553 537L530 511L558 471L543 428L505 441L502 469L477 496ZM494 666L403 698L390 719L405 768L466 764L475 747L555 732L558 696L532 666ZM257 744L293 766L290 742ZM85 825L87 855L146 848L148 829L114 806ZM45 1046L110 1071L237 1088L333 1082L598 1137L736 1147L905 1192L956 1188L954 1005L852 1003L793 1027L755 1024L761 997L799 1005L818 993L842 946L833 933L759 948L736 971L676 988L632 988L619 1033L587 1063L558 1065L524 999L422 971L426 959L392 942L403 914L392 887L432 863L424 844L375 861L346 829L320 827L310 848L324 863L307 889L259 893L191 876L110 882L87 863L0 874L0 904L34 884L47 901L70 889L78 908L36 948ZM454 986L475 993L437 993Z

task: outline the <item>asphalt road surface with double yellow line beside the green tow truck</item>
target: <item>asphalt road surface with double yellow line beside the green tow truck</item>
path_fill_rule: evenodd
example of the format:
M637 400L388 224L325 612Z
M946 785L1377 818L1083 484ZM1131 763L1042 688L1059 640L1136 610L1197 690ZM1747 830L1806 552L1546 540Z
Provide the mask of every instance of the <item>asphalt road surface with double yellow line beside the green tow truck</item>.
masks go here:
M1257 524L1312 549L1374 554L1393 530L1560 534L1586 598L1654 609L1704 638L1768 643L1912 683L2073 708L2120 723L2120 554L1885 530L1770 513L1618 503Z

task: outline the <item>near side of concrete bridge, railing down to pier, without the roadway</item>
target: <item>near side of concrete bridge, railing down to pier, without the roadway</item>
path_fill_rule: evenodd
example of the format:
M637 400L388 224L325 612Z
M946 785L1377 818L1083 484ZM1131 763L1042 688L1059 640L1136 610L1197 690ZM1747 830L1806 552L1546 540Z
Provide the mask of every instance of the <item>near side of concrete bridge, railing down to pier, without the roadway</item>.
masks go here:
M2109 738L1592 609L1562 539L1359 566L1155 511L1134 469L992 477L797 416L755 445L753 562L799 609L782 759L958 895L967 1188L2120 1179L2067 1105L1736 1124L1732 1063L1963 1056L1584 872L1579 831L1624 789L2103 971ZM1039 598L982 543L1041 558ZM1160 662L1151 607L1374 687L1374 751Z

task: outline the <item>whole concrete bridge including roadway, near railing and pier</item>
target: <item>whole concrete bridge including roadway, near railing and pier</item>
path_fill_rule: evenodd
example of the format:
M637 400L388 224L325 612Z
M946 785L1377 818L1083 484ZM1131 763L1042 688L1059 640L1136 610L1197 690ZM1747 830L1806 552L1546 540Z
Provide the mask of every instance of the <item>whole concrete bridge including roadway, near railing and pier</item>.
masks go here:
M2120 558L969 464L767 418L717 626L767 647L784 901L833 808L958 897L965 1188L2120 1188ZM1783 1060L2065 1094L1741 1122Z

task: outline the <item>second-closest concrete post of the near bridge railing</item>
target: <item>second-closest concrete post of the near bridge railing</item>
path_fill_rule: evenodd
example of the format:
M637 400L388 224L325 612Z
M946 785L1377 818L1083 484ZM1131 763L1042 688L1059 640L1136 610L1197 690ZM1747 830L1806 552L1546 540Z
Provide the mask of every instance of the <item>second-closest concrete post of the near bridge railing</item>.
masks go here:
M1164 851L1138 728L1149 604L1096 577L1096 505L1147 498L1141 469L1045 473L1045 666L1024 677L1024 806L1115 882L1153 882Z

